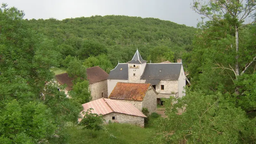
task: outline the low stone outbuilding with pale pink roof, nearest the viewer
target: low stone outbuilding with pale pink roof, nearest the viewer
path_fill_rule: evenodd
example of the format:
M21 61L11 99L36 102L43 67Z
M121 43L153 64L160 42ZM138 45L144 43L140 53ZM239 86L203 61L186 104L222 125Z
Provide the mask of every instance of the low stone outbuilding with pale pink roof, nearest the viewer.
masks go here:
M93 108L91 110L92 113L102 114L106 124L108 124L108 121L111 121L144 127L144 117L146 116L130 103L101 98L85 103L82 106L84 108L83 111ZM78 121L81 121L81 119Z

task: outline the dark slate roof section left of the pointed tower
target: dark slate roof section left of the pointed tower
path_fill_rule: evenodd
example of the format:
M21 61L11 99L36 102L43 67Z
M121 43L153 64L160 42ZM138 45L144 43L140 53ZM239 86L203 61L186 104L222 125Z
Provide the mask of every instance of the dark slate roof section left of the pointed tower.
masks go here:
M110 71L108 79L128 80L128 63L118 63L116 68Z

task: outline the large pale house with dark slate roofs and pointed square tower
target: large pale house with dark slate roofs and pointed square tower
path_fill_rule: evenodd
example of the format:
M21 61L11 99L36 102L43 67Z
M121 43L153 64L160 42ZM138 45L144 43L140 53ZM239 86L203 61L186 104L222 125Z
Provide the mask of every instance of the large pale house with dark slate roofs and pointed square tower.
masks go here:
M160 98L182 97L183 87L186 85L181 59L177 63L165 61L163 63L146 63L137 50L131 61L118 63L108 76L108 95L112 92L117 82L125 83L149 83L157 95L157 103Z

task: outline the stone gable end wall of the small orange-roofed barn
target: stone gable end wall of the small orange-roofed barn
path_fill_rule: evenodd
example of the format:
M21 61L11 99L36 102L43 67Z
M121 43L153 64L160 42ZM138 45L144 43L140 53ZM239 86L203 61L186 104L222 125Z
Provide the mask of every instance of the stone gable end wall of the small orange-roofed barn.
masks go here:
M142 100L142 108L148 108L149 113L156 112L156 92L152 87L148 88L145 97Z

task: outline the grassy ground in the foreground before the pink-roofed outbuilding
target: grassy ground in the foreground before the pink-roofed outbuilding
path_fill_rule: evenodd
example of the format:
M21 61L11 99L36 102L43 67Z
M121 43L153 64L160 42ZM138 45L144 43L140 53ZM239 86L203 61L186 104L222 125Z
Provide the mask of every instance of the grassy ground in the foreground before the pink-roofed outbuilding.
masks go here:
M151 119L153 121L153 119ZM151 121L150 120L150 121ZM148 126L146 128L140 128L135 125L130 124L118 124L112 123L105 125L105 130L100 130L93 132L91 137L90 130L82 130L81 126L73 126L68 128L68 133L70 134L70 139L68 143L70 144L136 144L141 143L143 140L152 138L156 135L153 126Z

